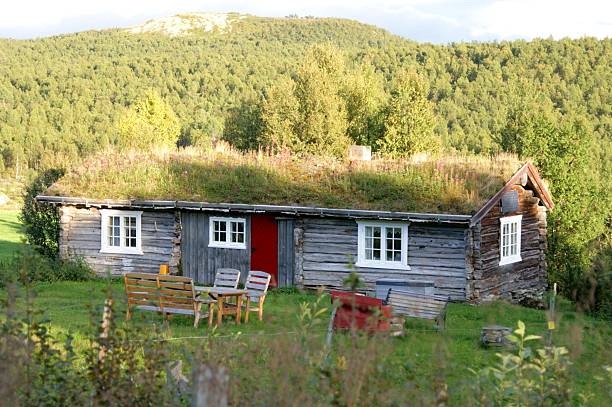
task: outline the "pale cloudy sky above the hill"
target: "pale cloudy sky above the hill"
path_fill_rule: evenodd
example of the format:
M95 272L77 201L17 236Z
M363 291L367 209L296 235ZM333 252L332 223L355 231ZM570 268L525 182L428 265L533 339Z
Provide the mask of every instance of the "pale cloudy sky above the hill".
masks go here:
M342 17L433 43L612 37L612 0L3 0L0 37L128 27L185 12Z

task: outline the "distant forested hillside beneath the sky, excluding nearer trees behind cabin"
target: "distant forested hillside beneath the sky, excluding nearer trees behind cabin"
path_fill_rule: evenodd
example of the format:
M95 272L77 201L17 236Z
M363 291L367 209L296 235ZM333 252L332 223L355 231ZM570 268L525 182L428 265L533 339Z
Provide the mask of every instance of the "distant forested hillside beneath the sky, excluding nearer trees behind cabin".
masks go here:
M418 44L348 20L237 18L191 36L91 31L0 40L0 168L70 162L117 141L118 115L156 89L180 118L185 144L221 137L227 112L329 42L348 64L374 67L388 91L400 68L428 83L435 132L458 150L500 150L525 92L542 109L578 114L598 138L612 128L612 40Z

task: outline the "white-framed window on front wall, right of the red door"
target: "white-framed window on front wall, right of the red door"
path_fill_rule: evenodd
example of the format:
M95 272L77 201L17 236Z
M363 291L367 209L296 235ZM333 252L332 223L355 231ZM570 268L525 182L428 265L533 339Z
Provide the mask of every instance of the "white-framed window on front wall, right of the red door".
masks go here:
M408 224L357 222L357 267L410 270Z

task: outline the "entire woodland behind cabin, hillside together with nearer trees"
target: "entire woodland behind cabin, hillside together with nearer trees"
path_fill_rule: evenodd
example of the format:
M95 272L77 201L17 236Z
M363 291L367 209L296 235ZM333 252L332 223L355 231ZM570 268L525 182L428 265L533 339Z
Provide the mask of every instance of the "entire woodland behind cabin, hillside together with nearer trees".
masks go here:
M551 183L551 280L612 315L611 85L611 39L432 45L340 19L230 14L188 35L0 40L0 174L218 139L300 154L512 152Z

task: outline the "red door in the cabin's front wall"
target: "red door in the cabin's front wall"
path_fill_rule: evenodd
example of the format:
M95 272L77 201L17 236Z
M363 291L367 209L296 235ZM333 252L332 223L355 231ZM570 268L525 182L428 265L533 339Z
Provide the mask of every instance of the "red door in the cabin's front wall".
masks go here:
M278 280L278 224L274 216L251 216L251 270L265 271L272 276L270 285Z

